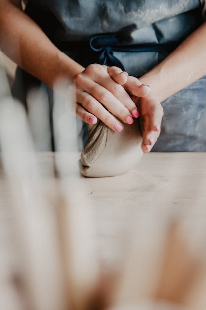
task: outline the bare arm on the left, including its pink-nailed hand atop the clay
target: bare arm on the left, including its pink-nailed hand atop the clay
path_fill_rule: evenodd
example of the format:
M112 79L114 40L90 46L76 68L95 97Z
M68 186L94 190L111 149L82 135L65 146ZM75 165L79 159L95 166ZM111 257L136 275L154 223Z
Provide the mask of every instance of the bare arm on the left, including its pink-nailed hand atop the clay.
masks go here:
M2 51L51 88L58 78L73 81L77 116L85 122L95 123L99 118L116 131L122 130L117 118L131 123L132 117L137 117L137 108L124 87L110 77L104 66L94 64L85 69L58 50L41 28L18 8L17 2L0 0ZM127 76L121 74L126 81ZM141 88L138 94L144 95Z

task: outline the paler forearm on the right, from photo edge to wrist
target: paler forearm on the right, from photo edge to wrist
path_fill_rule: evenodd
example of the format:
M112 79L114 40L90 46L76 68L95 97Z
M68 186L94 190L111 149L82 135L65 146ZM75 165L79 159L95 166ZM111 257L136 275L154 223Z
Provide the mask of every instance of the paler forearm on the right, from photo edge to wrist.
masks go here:
M206 74L206 23L140 78L162 102Z

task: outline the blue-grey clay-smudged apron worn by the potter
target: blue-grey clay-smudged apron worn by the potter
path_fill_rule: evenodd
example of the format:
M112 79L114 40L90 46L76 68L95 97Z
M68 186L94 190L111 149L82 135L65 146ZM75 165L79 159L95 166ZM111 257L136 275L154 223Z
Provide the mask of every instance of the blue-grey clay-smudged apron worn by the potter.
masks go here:
M138 78L203 22L199 0L29 0L25 12L82 66L116 65ZM18 69L13 94L27 106L34 85L41 82ZM52 91L45 88L54 136ZM161 104L161 135L152 150L206 151L206 77Z

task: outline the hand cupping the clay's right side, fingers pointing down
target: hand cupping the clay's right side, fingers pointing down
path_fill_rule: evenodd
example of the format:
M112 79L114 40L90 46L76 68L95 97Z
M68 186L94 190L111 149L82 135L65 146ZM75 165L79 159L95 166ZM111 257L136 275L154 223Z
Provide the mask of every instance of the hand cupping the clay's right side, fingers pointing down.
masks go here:
M110 76L119 83L120 78L118 74L120 75L121 71L122 70L117 67L108 68ZM142 150L144 153L148 153L160 135L163 117L162 105L151 92L148 92L149 85L141 84L141 82L133 76L129 76L123 86L128 94L131 95L131 99L140 113L139 119L143 136ZM139 89L142 89L141 97L139 96Z

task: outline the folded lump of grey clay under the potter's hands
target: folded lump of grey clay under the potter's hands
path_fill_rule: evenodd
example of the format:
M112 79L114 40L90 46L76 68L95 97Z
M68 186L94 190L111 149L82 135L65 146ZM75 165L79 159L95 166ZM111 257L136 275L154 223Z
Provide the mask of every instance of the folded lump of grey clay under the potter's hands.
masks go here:
M138 119L132 125L121 124L121 132L111 130L101 121L88 125L89 137L80 159L80 172L84 176L115 176L138 164L143 155Z

